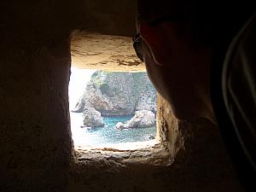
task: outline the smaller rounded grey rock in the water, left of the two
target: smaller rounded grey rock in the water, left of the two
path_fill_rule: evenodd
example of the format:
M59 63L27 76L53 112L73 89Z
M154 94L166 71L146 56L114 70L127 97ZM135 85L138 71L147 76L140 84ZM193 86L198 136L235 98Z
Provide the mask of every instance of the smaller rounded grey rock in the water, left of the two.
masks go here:
M86 108L84 110L84 126L99 127L104 126L102 115L95 108Z

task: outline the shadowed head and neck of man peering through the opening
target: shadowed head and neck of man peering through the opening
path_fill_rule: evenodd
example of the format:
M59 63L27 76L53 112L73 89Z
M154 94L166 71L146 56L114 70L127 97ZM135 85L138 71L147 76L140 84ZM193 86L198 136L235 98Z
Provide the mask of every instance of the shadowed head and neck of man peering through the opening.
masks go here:
M140 38L135 46L143 55L149 79L178 119L215 121L210 97L212 53L216 44L233 37L229 26L234 22L230 20L234 15L225 13L222 5L211 11L218 8L213 1L139 0Z

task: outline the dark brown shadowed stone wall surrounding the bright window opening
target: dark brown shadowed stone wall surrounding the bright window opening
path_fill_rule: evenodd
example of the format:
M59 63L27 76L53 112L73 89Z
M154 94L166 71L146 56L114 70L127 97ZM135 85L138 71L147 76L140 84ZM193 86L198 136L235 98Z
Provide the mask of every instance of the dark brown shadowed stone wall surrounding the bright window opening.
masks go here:
M178 121L160 96L159 146L73 150L70 34L86 29L131 38L136 3L1 1L0 191L242 191L218 127L205 119Z

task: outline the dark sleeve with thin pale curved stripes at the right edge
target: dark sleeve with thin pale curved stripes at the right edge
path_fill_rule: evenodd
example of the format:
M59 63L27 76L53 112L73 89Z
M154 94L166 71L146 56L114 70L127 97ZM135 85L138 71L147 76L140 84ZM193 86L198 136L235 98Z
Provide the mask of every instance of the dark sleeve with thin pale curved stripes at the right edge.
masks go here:
M224 103L244 158L256 173L256 14L230 44L222 74ZM242 158L242 157L238 157Z

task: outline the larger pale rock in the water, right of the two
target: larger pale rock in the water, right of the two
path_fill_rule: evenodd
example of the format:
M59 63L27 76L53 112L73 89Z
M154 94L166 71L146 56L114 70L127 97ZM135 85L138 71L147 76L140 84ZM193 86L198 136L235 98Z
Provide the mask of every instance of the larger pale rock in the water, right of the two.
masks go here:
M125 124L119 122L115 127L117 129L141 128L155 125L154 113L148 110L140 110L135 113L131 120Z

